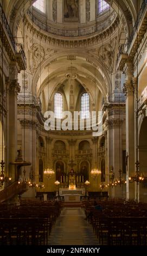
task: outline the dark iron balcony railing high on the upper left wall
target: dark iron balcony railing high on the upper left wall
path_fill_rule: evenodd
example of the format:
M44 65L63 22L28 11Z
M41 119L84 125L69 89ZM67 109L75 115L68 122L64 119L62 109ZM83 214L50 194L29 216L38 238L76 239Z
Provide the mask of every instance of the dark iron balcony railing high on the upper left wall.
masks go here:
M12 32L11 32L11 29L10 29L9 24L8 24L8 21L7 21L7 17L4 14L1 3L0 3L0 21L1 21L1 24L3 25L3 27L5 28L5 30L7 31L7 34L9 36L10 41L11 41L12 47L14 48L14 51L16 53L21 53L22 56L23 56L24 62L26 62L23 47L22 47L21 44L18 44L17 42L15 42L14 37L13 37Z

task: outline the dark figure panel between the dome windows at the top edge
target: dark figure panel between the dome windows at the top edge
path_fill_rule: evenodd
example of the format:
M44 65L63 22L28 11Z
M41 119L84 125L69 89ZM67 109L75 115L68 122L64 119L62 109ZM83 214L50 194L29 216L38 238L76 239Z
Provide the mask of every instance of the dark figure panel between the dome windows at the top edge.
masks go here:
M79 18L79 0L64 0L64 18L67 21Z

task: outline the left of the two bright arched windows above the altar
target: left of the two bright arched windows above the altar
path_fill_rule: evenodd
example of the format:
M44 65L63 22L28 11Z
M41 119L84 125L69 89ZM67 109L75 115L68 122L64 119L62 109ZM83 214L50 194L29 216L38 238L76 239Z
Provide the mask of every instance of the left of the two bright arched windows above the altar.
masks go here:
M54 112L55 118L62 118L63 116L63 96L61 93L55 93L54 97Z

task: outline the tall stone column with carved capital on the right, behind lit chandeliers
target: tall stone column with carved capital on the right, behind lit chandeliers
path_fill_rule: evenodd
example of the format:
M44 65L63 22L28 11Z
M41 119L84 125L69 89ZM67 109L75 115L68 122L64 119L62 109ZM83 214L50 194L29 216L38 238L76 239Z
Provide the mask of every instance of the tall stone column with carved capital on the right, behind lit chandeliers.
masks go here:
M124 86L126 94L126 199L134 199L134 184L129 183L129 176L135 171L135 97L132 80L127 80Z

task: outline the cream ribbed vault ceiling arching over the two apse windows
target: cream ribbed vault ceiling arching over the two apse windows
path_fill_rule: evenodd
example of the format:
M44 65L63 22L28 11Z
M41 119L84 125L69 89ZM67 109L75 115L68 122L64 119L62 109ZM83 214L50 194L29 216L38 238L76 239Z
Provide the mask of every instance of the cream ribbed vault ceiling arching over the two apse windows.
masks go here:
M48 101L59 87L66 83L69 76L74 76L75 80L81 84L86 92L90 93L91 101L94 101L95 88L103 97L106 97L110 84L100 68L95 68L91 63L86 62L85 58L75 56L75 59L68 59L67 56L58 57L53 63L38 69L34 75L33 93L38 97L43 94L43 106L47 108ZM41 74L39 74L41 72ZM40 80L41 75L41 80Z

